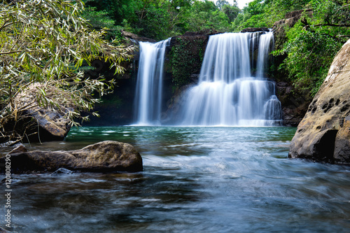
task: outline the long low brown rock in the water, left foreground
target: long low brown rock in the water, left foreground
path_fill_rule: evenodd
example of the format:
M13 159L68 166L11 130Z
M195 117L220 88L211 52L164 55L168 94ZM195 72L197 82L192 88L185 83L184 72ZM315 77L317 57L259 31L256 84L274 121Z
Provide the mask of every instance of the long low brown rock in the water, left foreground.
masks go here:
M4 157L0 163L4 163ZM71 151L31 151L11 155L13 173L31 171L142 171L141 155L133 146L118 141L102 141ZM2 171L4 172L4 171Z

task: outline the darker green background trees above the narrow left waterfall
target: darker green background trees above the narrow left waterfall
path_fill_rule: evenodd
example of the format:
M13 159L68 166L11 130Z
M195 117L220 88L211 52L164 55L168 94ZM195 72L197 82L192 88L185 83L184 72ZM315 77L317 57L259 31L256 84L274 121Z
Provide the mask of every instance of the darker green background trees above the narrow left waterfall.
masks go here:
M219 0L85 0L97 12L108 13L115 26L139 36L163 40L186 31L215 29L229 31L239 13L233 6Z

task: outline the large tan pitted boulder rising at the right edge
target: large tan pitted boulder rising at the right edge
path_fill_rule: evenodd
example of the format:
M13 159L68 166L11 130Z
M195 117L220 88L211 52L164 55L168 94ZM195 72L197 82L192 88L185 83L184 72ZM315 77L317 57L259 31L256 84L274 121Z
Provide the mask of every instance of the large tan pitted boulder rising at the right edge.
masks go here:
M288 157L350 164L350 40L330 66L290 143Z

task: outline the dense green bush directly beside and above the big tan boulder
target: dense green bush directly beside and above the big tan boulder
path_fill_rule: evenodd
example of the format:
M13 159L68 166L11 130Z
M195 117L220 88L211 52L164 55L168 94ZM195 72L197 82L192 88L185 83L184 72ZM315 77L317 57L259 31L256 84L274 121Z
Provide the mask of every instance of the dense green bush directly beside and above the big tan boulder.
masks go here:
M288 56L281 69L288 70L295 87L314 95L327 76L332 59L350 37L346 20L350 8L349 4L332 0L309 1L308 6L314 9L313 17L305 15L288 29L288 42L275 54Z

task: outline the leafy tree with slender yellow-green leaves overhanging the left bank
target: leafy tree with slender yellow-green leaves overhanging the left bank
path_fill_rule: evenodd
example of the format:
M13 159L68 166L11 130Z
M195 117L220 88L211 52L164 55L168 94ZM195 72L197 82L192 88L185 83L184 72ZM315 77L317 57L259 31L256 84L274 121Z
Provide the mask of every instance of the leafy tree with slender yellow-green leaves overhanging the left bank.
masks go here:
M102 39L80 17L80 0L18 0L0 3L0 127L8 140L22 139L25 129L16 125L27 117L28 108L51 108L65 115L71 125L87 120L90 111L114 81L92 80L80 67L94 59L111 62L123 73L120 62L130 59L133 48L115 47ZM36 84L40 85L36 85ZM36 87L35 103L21 104L16 98ZM54 88L55 94L48 94ZM64 109L63 109L64 108ZM34 122L35 123L35 122ZM8 125L12 125L10 129Z

